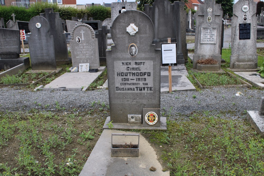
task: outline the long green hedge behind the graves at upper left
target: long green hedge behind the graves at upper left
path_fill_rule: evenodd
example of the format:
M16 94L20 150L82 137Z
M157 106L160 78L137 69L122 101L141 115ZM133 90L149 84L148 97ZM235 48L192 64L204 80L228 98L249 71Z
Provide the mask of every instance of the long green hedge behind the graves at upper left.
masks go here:
M72 16L83 17L87 14L88 18L93 17L94 20L105 20L111 18L111 8L103 6L92 6L86 9L76 9L74 7L59 7L57 4L51 3L36 3L29 9L23 7L5 7L0 6L0 17L4 18L4 23L8 20L12 20L12 13L15 13L16 20L29 21L32 17L45 12L45 8L53 8L54 12L60 13L60 18L63 20L72 20Z

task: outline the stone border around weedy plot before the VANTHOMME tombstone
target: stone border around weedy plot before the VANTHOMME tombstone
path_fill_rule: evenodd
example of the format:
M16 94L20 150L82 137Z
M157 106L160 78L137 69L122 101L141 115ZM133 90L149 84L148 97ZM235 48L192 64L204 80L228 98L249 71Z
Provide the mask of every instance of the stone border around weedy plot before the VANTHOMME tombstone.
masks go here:
M214 72L212 72L212 73L214 73ZM194 80L196 81L196 83L198 84L198 86L199 86L200 89L210 89L210 88L218 88L218 87L224 87L224 88L236 88L236 87L248 87L248 88L251 88L252 87L251 84L247 83L246 81L244 81L241 78L238 78L237 76L233 75L232 73L230 73L230 72L225 72L225 73L227 73L232 78L238 79L241 84L236 84L236 85L202 86L202 84L198 81L198 79L194 75L192 75L192 77L194 78Z

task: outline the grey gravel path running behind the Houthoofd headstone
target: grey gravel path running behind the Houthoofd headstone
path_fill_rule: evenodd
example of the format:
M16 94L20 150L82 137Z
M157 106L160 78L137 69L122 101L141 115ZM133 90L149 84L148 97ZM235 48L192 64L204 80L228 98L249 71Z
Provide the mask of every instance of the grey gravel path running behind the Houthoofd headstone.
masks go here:
M235 96L236 92L244 95ZM196 95L196 98L193 98ZM233 118L241 116L244 110L259 110L261 97L264 91L247 88L214 88L202 91L182 91L161 93L162 112L169 113L170 107L172 118L177 114L189 114L193 111L228 111ZM32 108L39 110L56 110L56 102L65 108L65 111L77 108L79 111L86 111L93 101L106 105L109 104L108 90L98 89L95 91L36 91L32 92L20 88L0 88L0 111L27 111ZM39 106L40 104L40 106ZM45 107L45 105L48 105ZM230 116L230 114L228 115Z

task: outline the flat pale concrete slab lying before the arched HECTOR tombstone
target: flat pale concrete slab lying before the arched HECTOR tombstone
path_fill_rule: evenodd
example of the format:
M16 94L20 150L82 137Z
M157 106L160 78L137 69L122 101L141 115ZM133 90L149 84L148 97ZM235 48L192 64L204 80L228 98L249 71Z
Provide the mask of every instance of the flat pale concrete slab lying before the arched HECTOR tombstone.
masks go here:
M90 73L90 72L67 72L45 85L43 89L57 89L66 88L69 90L79 91L80 88L89 88L89 85L95 82L102 74L106 67L101 67L102 71ZM67 80L67 81L65 81Z

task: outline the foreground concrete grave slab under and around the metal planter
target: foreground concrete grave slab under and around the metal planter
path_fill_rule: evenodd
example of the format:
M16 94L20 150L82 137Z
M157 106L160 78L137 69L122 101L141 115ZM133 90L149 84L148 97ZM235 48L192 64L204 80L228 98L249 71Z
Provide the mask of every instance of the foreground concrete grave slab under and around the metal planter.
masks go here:
M169 176L169 171L162 171L162 166L157 160L155 150L142 135L139 136L139 157L110 157L112 133L131 132L110 129L103 130L79 176L130 176L132 174L135 176ZM150 171L149 168L152 166L157 170L154 172Z

